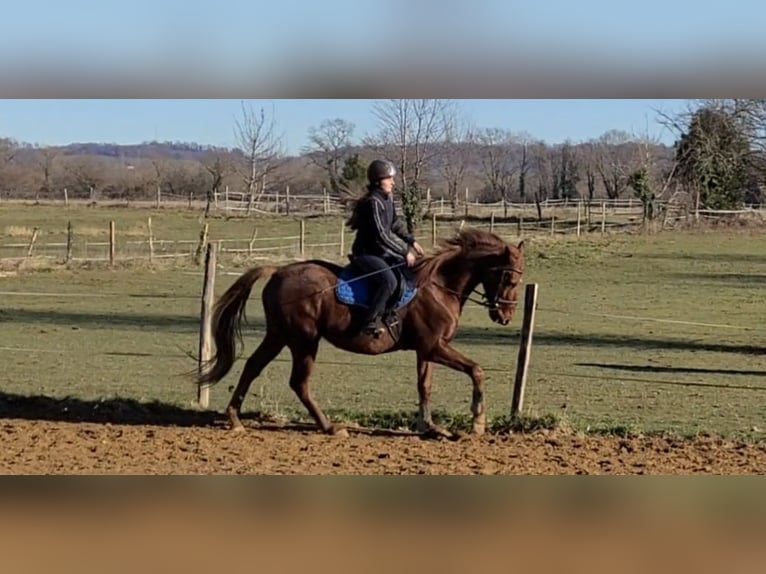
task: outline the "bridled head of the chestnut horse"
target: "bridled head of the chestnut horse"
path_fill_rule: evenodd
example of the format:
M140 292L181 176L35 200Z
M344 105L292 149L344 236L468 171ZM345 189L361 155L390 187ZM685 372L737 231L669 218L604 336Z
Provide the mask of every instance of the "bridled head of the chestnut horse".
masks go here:
M513 319L524 273L524 241L508 245L498 254L487 255L480 266L480 282L484 288L489 317L507 325Z

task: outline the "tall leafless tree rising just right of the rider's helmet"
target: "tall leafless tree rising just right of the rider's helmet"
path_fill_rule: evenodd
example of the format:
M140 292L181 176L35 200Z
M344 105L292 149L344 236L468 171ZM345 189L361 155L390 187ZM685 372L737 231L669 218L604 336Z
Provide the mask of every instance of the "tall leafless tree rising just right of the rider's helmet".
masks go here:
M399 166L401 195L407 228L413 232L420 222L421 188L425 170L433 164L437 147L445 134L444 118L453 103L446 100L378 100L373 115L380 131L371 143L394 154Z

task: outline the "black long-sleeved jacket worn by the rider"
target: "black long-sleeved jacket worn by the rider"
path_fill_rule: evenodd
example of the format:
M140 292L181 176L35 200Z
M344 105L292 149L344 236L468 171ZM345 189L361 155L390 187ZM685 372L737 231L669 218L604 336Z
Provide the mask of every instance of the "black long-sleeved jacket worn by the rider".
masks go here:
M377 255L402 259L415 243L415 238L396 214L393 197L379 188L372 189L360 201L357 218L352 257Z

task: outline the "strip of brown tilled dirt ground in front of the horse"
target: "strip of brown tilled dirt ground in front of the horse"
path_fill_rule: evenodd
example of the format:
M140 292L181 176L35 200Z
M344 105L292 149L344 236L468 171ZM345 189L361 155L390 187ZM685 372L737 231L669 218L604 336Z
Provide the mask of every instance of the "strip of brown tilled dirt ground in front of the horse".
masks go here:
M296 428L0 420L3 474L763 474L766 445L564 431L424 440Z

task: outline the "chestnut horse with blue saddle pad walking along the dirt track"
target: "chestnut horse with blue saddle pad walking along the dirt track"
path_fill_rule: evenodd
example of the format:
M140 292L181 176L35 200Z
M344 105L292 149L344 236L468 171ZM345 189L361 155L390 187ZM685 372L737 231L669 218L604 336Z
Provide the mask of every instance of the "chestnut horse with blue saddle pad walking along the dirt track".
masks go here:
M236 339L242 343L242 320L253 286L265 280L261 303L266 334L247 359L226 408L230 428L244 431L242 403L252 382L287 347L292 355L289 385L322 432L348 436L331 422L309 389L309 379L322 339L356 354L381 355L415 351L419 409L417 430L427 436L452 436L431 416L433 365L468 375L473 383L472 432L486 430L484 373L481 366L450 345L466 301L488 308L489 318L508 325L514 316L524 272L524 241L512 245L493 233L464 229L442 240L435 252L399 271L400 285L389 300L395 327L377 337L360 328L367 277L353 266L311 259L283 265L252 267L219 297L212 312L215 352L196 376L198 385L223 379L235 361ZM477 291L483 287L484 293ZM471 299L472 294L481 299ZM394 301L391 304L391 301Z

